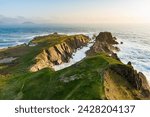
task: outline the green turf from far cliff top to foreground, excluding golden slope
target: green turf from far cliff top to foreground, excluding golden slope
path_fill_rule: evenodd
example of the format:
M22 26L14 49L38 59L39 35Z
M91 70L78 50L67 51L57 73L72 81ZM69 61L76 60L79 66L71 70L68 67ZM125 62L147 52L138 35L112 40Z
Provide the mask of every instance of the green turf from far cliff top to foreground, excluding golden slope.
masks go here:
M111 64L122 63L104 53L86 57L60 71L46 68L29 72L43 49L73 38L53 34L32 40L30 43L38 44L33 47L21 45L0 50L1 58L19 58L11 64L0 64L0 99L105 99L103 71Z

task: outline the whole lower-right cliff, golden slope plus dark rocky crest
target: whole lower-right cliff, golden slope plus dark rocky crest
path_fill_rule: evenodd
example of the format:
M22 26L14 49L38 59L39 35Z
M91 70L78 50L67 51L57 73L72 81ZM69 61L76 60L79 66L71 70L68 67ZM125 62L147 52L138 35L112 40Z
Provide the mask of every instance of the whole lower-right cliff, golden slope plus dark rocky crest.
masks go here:
M104 73L107 99L150 99L150 87L143 73L132 66L110 65Z

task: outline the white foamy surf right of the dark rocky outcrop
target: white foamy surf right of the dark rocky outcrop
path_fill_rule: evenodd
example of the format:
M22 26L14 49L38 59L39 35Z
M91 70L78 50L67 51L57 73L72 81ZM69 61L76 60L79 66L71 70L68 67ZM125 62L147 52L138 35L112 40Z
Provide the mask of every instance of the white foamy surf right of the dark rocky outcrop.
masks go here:
M118 41L123 41L119 44L120 52L118 56L123 63L132 62L134 68L139 72L144 73L150 83L150 47L149 43L140 43L140 40L130 38L119 38ZM141 39L142 40L142 39Z

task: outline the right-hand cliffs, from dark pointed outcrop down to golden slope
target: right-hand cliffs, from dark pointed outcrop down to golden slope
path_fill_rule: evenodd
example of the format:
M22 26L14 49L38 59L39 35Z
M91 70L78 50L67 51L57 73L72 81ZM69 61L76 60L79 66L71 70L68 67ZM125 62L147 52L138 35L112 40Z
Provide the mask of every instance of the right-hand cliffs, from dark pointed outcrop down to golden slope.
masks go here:
M105 53L111 56L109 66L104 72L104 90L106 99L150 99L150 87L143 73L137 73L131 62L123 64L114 50L116 38L109 32L101 32L96 37L88 55ZM115 62L114 60L115 59Z

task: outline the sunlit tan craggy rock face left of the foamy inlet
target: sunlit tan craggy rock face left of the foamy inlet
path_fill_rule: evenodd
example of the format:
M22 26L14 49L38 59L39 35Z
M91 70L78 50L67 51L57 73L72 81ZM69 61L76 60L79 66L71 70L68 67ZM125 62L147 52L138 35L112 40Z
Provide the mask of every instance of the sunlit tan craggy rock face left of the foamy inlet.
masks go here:
M89 37L80 35L75 36L74 39L68 38L60 44L43 50L36 57L36 64L30 68L30 71L35 72L46 67L69 62L76 49L85 46L88 42Z

